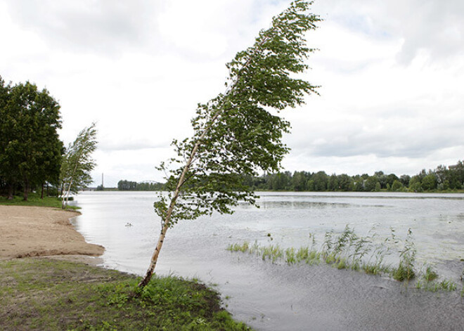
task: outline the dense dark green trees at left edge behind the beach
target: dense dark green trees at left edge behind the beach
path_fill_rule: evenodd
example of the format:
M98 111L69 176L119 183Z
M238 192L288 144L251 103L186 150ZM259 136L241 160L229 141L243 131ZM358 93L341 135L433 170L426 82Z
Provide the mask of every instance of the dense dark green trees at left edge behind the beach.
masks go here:
M60 105L43 89L26 82L11 86L0 77L0 193L58 185L63 143ZM43 190L42 190L43 192Z

